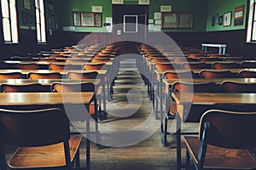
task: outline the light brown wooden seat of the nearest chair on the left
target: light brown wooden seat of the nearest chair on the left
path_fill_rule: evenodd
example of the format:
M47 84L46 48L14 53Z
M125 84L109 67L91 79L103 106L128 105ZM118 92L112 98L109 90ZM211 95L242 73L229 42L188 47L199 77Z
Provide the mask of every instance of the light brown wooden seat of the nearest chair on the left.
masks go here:
M81 137L70 137L70 159L73 162L79 150ZM38 147L19 147L9 160L9 167L63 167L66 165L63 143Z

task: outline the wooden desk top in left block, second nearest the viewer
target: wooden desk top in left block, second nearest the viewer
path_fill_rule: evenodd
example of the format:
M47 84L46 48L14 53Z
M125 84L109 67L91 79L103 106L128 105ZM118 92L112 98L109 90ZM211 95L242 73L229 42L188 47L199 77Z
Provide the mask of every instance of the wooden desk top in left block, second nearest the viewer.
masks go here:
M92 82L95 85L98 85L101 80L100 79L0 79L0 84L30 84L30 83L40 83L43 85L51 85L53 82Z

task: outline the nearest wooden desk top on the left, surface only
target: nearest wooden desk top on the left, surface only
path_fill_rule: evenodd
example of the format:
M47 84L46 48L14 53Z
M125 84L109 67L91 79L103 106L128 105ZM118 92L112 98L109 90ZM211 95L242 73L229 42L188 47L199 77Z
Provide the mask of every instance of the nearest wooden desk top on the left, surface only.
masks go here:
M1 93L1 106L90 104L93 92L83 93Z

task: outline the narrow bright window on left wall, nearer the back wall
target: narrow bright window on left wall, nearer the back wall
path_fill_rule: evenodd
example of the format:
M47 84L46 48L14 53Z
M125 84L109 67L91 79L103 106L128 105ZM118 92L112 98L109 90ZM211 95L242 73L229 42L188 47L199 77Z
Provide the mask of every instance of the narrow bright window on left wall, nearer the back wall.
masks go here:
M38 42L46 42L44 0L35 0L36 4L36 25Z

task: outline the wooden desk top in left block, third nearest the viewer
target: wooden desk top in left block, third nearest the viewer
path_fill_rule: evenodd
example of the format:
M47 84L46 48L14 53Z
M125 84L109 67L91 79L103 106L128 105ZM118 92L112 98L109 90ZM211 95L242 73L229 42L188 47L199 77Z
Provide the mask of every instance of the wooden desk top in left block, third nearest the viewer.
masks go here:
M107 70L90 70L90 71L85 71L85 70L19 70L19 69L1 69L0 73L7 73L7 72L21 72L22 74L26 75L29 72L39 72L39 73L50 73L50 72L59 72L61 74L67 74L67 72L91 72L91 71L96 71L98 74L101 75L106 75Z

